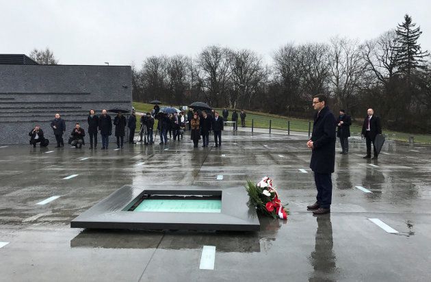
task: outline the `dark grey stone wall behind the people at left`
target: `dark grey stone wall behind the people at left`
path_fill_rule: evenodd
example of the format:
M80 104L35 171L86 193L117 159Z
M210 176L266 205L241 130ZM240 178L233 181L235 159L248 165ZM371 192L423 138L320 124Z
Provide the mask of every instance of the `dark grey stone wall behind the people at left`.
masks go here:
M0 144L29 144L36 124L55 144L49 124L57 112L67 140L75 123L87 132L90 109L131 110L131 99L130 66L0 65Z

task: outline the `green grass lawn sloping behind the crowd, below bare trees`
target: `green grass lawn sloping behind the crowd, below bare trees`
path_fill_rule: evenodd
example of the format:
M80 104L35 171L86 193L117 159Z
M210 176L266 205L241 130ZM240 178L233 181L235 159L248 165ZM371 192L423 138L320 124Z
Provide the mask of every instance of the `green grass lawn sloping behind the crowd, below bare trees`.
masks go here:
M135 110L138 112L151 112L153 110L154 105L146 104L146 103L139 103L139 102L133 102L133 107L135 107ZM174 107L179 107L175 106ZM222 114L222 109L215 109L220 113L220 116ZM238 117L239 117L239 111ZM264 114L260 112L252 112L252 111L246 111L246 126L251 127L252 120L253 120L253 126L257 128L267 128L270 127L270 120L271 120L271 128L272 129L281 129L287 131L287 122L290 122L290 130L291 131L300 131L300 132L308 132L309 131L309 122L312 121L310 118L309 120L306 119L300 119L300 118L288 118L285 116L278 116L275 114ZM229 117L228 120L231 120L232 110L229 110ZM139 118L137 129L140 128L139 125ZM157 120L155 120L155 128L157 127ZM311 128L313 128L313 123L311 123ZM350 132L353 133L361 133L361 126L360 125L352 125L350 127ZM397 131L389 131L389 130L383 130L383 133L388 133L389 137L392 138L392 135L395 133L395 140L397 141L403 141L408 142L408 138L410 136L413 136L415 138L415 142L418 143L425 143L425 144L431 144L431 135L430 134L410 134L410 133L404 133L404 132L397 132Z

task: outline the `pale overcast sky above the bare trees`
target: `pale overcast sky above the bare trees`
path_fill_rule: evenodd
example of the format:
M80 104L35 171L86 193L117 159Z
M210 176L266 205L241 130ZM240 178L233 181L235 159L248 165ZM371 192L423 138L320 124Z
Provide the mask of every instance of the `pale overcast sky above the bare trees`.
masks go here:
M150 55L196 55L209 44L270 60L287 42L367 40L404 14L431 49L431 1L20 1L0 0L0 53L49 47L60 64L129 65Z

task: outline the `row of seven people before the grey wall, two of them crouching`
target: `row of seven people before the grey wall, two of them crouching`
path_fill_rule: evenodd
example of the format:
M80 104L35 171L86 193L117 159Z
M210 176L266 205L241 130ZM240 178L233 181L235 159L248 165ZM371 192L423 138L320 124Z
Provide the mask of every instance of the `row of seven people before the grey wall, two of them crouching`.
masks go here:
M107 110L102 110L102 114L97 116L94 110L90 110L88 114L88 135L90 137L90 150L97 149L97 136L100 133L102 137L102 150L108 149L109 146L109 136L112 135L112 118L107 114ZM118 112L114 118L115 125L115 136L117 141L117 148L122 149L124 146L125 138L125 128L126 126L130 129L129 142L133 142L133 137L136 128L136 116L133 110L129 120L122 115L122 112ZM60 114L55 114L55 118L51 121L51 128L57 141L57 146L59 148L64 146L63 135L66 132L66 123L61 118ZM44 138L44 133L39 125L36 125L34 129L29 132L30 144L36 147L36 144L40 142L40 146L46 146L47 139ZM86 131L81 127L79 123L75 124L72 132L70 133L69 143L76 148L81 148L84 144L84 136L86 136Z

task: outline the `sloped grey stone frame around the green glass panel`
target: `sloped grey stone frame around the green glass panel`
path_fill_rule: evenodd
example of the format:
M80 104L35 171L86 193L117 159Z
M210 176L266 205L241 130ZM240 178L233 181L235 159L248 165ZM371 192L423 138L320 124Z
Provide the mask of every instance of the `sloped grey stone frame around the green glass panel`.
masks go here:
M144 194L211 195L222 197L220 213L133 212L129 211ZM193 201L193 200L190 200ZM259 231L259 218L254 207L247 205L248 196L241 188L203 190L144 189L124 185L70 222L72 228L88 229L181 229L220 231Z

